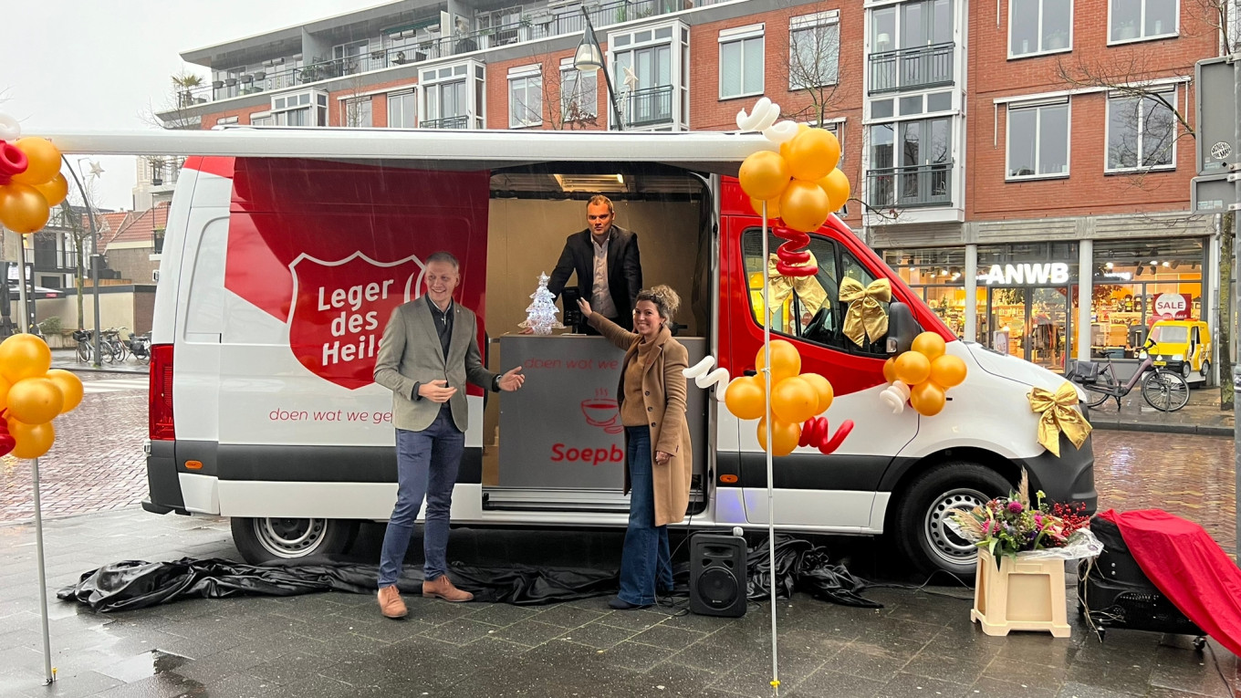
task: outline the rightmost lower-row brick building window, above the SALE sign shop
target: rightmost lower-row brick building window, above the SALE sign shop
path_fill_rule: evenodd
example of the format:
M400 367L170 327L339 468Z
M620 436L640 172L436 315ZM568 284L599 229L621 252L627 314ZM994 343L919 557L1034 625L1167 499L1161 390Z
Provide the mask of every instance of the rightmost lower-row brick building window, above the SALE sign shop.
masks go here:
M1176 166L1176 88L1107 98L1107 170Z

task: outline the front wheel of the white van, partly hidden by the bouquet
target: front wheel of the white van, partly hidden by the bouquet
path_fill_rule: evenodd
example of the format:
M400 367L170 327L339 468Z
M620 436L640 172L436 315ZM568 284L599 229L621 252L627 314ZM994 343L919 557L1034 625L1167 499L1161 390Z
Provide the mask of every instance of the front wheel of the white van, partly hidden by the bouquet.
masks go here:
M894 538L923 573L944 570L969 582L978 548L948 528L947 514L952 509L973 509L1011 489L1000 473L978 463L936 466L910 482L897 502Z

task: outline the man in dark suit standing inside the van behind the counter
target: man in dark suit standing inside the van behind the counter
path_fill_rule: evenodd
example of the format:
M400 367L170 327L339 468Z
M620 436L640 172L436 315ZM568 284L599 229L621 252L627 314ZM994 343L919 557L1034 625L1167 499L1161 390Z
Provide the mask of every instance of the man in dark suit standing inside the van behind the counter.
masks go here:
M633 303L642 291L638 236L613 225L613 220L616 210L612 200L602 194L592 196L586 205L587 229L565 240L565 250L551 272L547 291L560 296L568 276L576 272L582 299L609 320L632 328ZM585 330L598 334L588 325Z

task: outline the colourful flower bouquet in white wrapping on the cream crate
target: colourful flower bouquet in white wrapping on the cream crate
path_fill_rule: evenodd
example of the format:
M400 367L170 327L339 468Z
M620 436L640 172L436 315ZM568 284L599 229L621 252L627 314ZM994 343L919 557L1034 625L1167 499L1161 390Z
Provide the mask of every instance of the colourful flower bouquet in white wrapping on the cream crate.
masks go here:
M1041 491L1031 504L1029 491L1030 478L1023 471L1015 493L969 512L953 509L948 512L948 527L997 560L1001 555L1076 560L1102 553L1102 544L1090 532L1085 504L1049 505Z

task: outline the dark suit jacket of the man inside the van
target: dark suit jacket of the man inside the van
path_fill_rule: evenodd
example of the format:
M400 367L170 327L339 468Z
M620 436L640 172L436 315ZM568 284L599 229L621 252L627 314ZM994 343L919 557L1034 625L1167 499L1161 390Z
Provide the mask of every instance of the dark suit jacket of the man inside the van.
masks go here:
M586 229L565 240L556 270L551 272L547 291L560 296L568 283L568 274L577 272L577 288L587 303L594 296L594 243L591 230ZM633 315L633 303L642 291L642 261L638 257L638 235L620 226L612 226L608 242L608 294L617 307L617 319L628 327Z

